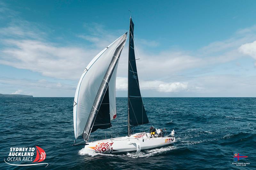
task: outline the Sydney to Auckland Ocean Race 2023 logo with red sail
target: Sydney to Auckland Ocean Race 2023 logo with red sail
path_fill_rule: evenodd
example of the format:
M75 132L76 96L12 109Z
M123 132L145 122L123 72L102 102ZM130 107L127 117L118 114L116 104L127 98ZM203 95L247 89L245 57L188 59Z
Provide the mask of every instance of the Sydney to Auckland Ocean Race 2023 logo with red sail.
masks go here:
M33 165L48 166L48 163L39 163L44 161L45 158L46 158L45 151L38 146L19 147L19 148L12 147L10 148L10 152L6 159L7 161L4 158L4 162L13 166L33 166Z

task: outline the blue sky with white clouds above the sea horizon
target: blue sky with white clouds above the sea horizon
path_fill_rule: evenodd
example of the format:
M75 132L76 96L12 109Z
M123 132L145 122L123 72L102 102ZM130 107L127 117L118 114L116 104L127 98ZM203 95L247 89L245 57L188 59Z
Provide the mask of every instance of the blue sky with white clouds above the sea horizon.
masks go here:
M90 60L129 29L131 10L144 97L256 97L256 1L0 3L1 93L73 97Z

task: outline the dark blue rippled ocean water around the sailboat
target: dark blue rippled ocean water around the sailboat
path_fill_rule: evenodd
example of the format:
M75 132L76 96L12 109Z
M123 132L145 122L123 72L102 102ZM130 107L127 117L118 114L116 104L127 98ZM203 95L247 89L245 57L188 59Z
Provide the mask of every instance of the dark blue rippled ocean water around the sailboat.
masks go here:
M256 98L143 98L156 128L175 130L176 143L134 153L87 153L74 141L73 98L0 98L0 169L256 169ZM125 136L127 98L117 98L112 127L92 133ZM148 131L150 124L136 127ZM117 134L118 132L118 134ZM82 141L81 138L78 142ZM4 162L10 147L39 146L49 165ZM233 165L233 152L248 156Z

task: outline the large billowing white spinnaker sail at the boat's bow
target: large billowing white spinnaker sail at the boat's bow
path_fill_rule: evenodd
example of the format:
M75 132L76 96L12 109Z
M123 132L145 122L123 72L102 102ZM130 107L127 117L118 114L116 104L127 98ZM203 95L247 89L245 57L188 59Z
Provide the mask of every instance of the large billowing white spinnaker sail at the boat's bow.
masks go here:
M85 68L78 82L74 98L73 119L75 138L83 133L96 94L100 88L102 79L104 78L104 75L108 70L108 66L111 62L113 54L116 48L124 41L125 38L126 34L119 37L116 41L111 43L107 48L103 49L98 55L96 55ZM113 75L113 77L114 76L116 78L116 74ZM112 85L113 83L110 86L111 88L113 88ZM111 96L109 98L113 98L113 90L111 91L111 94L109 91L109 96ZM114 96L114 98L116 98L116 95ZM111 101L109 100L109 102L109 105L111 105L111 107L114 107L116 105L116 99L112 99ZM115 102L115 104L113 104L113 102ZM116 111L116 108L112 108L112 114L114 111Z

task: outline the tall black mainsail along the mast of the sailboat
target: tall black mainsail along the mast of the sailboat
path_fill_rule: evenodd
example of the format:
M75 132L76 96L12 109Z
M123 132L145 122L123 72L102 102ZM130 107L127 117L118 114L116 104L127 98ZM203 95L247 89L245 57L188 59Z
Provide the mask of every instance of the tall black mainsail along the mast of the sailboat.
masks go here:
M137 126L148 123L143 101L140 94L139 78L136 67L133 39L134 24L130 18L129 29L129 59L128 59L128 136L130 136L130 126Z

